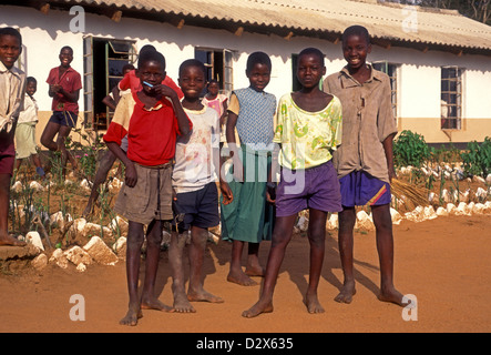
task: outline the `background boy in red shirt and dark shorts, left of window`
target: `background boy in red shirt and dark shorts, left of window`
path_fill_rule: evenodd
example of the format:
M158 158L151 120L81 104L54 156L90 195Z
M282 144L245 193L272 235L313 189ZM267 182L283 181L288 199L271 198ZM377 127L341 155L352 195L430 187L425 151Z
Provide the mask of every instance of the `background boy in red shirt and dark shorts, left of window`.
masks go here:
M51 152L61 151L62 166L67 159L70 160L72 169L76 168L76 161L69 154L64 141L71 130L76 125L79 115L79 97L82 89L82 79L70 63L73 61L73 50L65 45L60 51L60 65L51 69L47 83L50 84L48 94L53 98L51 115L41 135L41 144ZM53 141L58 134L57 142Z

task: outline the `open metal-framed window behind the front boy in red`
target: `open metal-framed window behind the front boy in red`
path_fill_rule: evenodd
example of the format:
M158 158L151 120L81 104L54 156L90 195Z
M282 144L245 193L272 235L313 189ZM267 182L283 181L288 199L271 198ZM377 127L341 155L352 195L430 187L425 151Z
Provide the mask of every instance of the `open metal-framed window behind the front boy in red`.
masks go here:
M84 37L83 100L85 129L108 130L113 112L102 102L123 79L123 67L136 60L133 41Z

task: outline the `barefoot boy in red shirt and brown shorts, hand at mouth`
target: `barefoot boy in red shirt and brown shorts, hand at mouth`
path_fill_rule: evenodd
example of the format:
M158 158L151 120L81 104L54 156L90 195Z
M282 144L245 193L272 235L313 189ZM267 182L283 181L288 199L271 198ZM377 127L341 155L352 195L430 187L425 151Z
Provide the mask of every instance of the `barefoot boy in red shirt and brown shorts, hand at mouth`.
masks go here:
M126 273L130 304L120 324L136 325L142 308L172 311L154 295L162 241L162 221L173 219L172 162L177 134L188 134L192 123L177 94L162 84L165 59L150 51L139 59L136 74L143 88L123 95L103 139L125 165L125 181L114 211L129 220ZM127 152L121 140L127 134ZM146 265L139 300L140 253L146 227Z

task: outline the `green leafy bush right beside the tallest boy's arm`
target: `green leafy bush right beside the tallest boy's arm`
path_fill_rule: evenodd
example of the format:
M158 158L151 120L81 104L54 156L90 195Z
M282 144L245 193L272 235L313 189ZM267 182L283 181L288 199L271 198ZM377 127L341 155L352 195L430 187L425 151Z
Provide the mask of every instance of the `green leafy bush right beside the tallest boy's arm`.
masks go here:
M421 168L430 159L430 149L421 134L405 130L393 141L393 164Z

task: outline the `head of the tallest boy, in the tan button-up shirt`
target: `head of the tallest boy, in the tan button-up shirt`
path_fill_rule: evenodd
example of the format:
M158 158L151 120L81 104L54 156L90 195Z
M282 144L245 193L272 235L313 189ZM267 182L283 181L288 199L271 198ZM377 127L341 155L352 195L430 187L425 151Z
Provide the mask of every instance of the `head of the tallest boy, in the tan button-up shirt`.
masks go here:
M348 67L356 69L365 65L371 52L370 34L362 26L348 27L342 33L342 54Z

